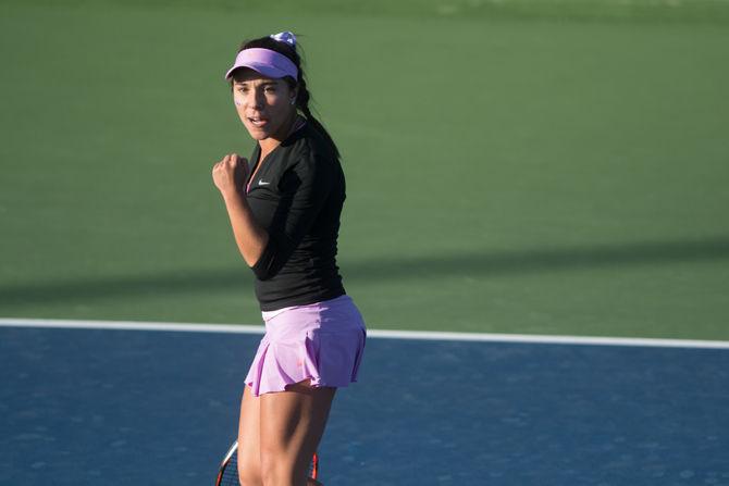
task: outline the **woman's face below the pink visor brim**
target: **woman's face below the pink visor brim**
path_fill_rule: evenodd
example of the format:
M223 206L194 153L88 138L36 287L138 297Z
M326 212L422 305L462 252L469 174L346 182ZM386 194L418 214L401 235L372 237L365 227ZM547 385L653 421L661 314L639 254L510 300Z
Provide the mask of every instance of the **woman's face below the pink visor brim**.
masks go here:
M245 68L233 80L233 100L240 121L254 140L273 137L282 140L288 135L287 122L296 113L296 90L284 79L265 77Z

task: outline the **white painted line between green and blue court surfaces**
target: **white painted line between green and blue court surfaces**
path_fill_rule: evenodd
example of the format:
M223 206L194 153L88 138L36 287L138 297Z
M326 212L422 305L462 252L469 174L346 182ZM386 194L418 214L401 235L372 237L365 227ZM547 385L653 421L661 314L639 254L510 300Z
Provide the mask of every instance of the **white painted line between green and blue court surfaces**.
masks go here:
M263 334L262 325L200 324L140 321L75 321L60 319L0 319L0 327L51 327L63 329L166 331L185 333ZM448 333L438 331L367 329L368 337L444 341L524 342L542 345L642 346L657 348L729 349L729 341L656 339L635 337L548 336L538 334Z

